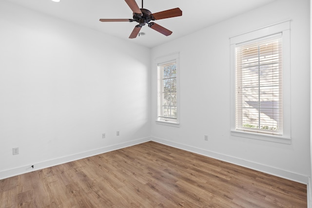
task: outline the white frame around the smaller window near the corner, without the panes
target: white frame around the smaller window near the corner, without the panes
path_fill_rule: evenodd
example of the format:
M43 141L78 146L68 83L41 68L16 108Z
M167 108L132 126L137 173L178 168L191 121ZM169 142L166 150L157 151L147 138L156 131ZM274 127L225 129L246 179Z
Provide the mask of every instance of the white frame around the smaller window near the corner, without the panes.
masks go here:
M156 83L157 83L157 112L156 112L156 124L160 125L167 125L167 126L173 126L173 127L179 127L180 124L180 108L179 108L179 54L171 54L163 57L157 57L155 59L155 65L156 65L156 71L158 71L158 66L165 64L165 63L170 63L170 62L176 62L176 120L161 120L158 116L158 73L156 76Z

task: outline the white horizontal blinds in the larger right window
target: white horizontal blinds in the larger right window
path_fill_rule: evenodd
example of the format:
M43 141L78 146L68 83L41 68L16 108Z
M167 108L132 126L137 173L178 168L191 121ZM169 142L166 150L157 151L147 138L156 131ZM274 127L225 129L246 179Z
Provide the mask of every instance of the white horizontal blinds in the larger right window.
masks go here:
M283 133L281 34L235 46L235 128Z

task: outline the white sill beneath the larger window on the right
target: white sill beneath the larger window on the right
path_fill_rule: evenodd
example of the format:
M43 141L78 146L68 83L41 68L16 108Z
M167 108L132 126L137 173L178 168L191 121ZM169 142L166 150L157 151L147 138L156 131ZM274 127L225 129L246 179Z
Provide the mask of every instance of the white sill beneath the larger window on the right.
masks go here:
M269 141L269 142L277 142L277 143L282 143L282 144L291 144L292 143L292 139L290 137L269 135L269 134L263 134L263 133L260 134L260 133L241 132L241 131L232 130L231 135L250 138L250 139Z

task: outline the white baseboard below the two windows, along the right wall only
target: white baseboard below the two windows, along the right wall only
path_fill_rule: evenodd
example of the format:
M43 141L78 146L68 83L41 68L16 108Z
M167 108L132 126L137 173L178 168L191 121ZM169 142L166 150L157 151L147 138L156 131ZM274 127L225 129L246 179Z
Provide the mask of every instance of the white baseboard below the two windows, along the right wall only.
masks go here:
M296 181L302 184L308 184L309 183L309 176L305 176L305 175L301 175L298 173L294 173L294 172L290 172L287 170L281 170L281 169L277 169L274 167L270 167L270 166L266 166L263 164L258 164L252 161L248 161L248 160L244 160L244 159L240 159L240 158L236 158L233 156L229 156L229 155L225 155L225 154L220 154L217 152L213 152L213 151L207 151L207 150L203 150L200 148L196 148L193 146L189 146L189 145L185 145L185 144L180 144L180 143L176 143L176 142L172 142L172 141L168 141L165 139L161 139L161 138L156 138L156 137L152 137L152 141L164 144L164 145L168 145L171 147L175 147L181 150L185 150L185 151L191 151L197 154L201 154L201 155L205 155L208 157L212 157L218 160L222 160L225 162L229 162L235 165L239 165L245 168L249 168L249 169L253 169L253 170L258 170L261 172L265 172L271 175L275 175L281 178L285 178L288 180L292 180L292 181Z

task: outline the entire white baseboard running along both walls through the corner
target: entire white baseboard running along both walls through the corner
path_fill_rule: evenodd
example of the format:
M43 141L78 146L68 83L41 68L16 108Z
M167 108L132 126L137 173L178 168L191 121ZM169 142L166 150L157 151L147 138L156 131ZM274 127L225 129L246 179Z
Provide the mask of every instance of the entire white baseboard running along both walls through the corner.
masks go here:
M30 165L26 165L26 166L22 166L22 167L18 167L18 168L14 168L14 169L10 169L10 170L2 170L0 171L0 180L4 179L4 178L9 178L12 176L16 176L16 175L20 175L23 173L27 173L27 172L31 172L34 170L41 170L44 168L49 168L52 166L56 166L59 164L63 164L63 163L67 163L67 162L71 162L74 160L79 160L82 158L86 158L86 157L90 157L90 156L94 156L97 154L101 154L101 153L105 153L108 151L114 151L114 150L118 150L118 149L122 149L122 148L126 148L126 147L130 147L133 145L137 145L137 144L141 144L144 142L148 142L148 141L155 141L164 145L168 145L171 147L175 147L181 150L186 150L186 151L191 151L197 154L201 154L201 155L205 155L208 157L212 157L218 160L222 160L225 162L229 162L235 165L239 165L242 167L246 167L246 168L250 168L253 170L258 170L261 172L266 172L272 175L276 175L278 177L282 177L282 178L286 178L292 181L296 181L299 183L303 183L303 184L307 184L308 185L308 189L309 189L309 193L311 195L312 193L312 182L310 183L309 180L310 177L309 176L305 176L305 175L301 175L301 174L297 174L297 173L293 173L287 170L281 170L281 169L277 169L274 167L269 167L266 165L262 165L262 164L258 164L258 163L254 163L252 161L247 161L247 160L243 160L240 158L235 158L229 155L225 155L225 154L220 154L217 152L213 152L213 151L207 151L207 150L203 150L200 148L196 148L196 147L192 147L189 145L185 145L185 144L180 144L180 143L176 143L176 142L172 142L172 141L168 141L165 139L161 139L161 138L156 138L156 137L146 137L146 138L141 138L141 139L137 139L137 140L132 140L132 141L128 141L128 142L124 142L124 143L120 143L120 144L116 144L116 145L112 145L112 146L108 146L108 147L102 147L96 150L91 150L91 151L86 151L86 152L81 152L78 154L73 154L73 155L68 155L68 156L64 156L64 157L60 157L60 158L55 158L52 160L48 160L48 161L43 161L43 162L39 162L36 164L30 164ZM32 165L34 165L34 169L31 167ZM311 196L308 196L311 198ZM310 203L312 203L312 201L310 200ZM311 207L312 208L312 207Z

